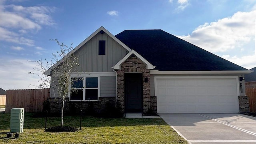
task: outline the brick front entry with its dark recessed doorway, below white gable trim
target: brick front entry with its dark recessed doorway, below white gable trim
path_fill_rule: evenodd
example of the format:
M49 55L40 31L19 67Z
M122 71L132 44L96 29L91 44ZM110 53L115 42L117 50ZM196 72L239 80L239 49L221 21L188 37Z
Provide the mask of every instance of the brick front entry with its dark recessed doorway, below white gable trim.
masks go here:
M146 113L151 107L150 70L137 56L131 55L116 70L117 104L122 112Z

